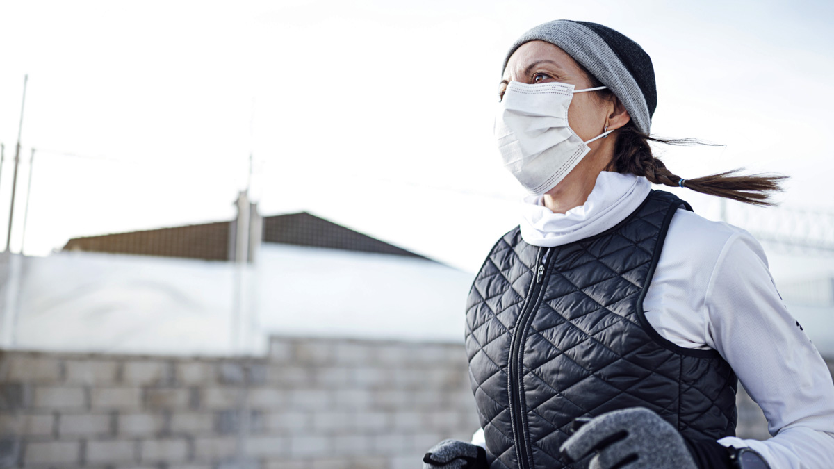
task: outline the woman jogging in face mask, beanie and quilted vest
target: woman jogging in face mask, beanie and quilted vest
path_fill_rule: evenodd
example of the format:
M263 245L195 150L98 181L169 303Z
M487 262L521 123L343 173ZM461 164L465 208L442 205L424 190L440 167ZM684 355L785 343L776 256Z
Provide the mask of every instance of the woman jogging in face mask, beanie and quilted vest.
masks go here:
M781 177L666 169L651 59L610 28L542 24L504 65L495 134L534 195L470 290L484 441L425 467L834 467L834 384L761 246L651 190L770 204ZM736 376L770 440L735 437Z

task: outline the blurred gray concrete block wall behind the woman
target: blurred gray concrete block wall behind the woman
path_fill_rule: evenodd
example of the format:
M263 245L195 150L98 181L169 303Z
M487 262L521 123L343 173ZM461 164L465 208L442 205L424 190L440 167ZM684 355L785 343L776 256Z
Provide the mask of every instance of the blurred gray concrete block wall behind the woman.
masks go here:
M479 426L462 345L273 337L269 350L0 352L0 468L417 468ZM767 438L758 406L738 402L739 436Z

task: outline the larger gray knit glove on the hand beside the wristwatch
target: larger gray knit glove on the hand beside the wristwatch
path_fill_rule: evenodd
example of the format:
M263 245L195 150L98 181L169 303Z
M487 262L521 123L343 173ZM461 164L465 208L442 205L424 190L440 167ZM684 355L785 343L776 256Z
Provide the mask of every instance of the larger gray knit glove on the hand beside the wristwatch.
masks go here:
M596 451L590 469L698 469L675 427L643 407L592 419L570 436L560 451L569 462Z

